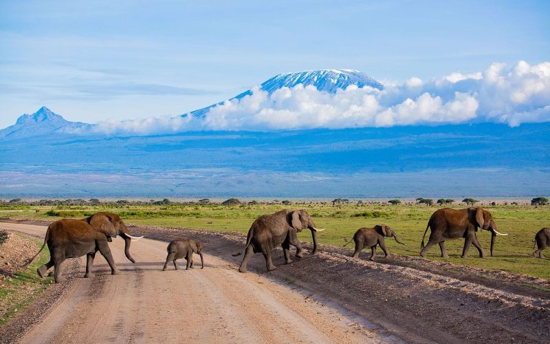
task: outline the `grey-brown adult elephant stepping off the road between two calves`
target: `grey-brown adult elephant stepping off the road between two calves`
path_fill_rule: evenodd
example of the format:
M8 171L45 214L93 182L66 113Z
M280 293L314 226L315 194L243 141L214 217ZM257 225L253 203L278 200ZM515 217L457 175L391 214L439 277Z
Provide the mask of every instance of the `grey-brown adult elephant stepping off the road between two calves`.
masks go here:
M267 271L275 270L276 266L272 263L271 254L272 250L278 245L283 247L285 264L292 263L290 245L296 247L296 257L302 258L302 245L298 241L297 233L301 232L303 228L311 230L311 237L314 241L314 249L311 250L311 254L314 254L317 250L317 232L324 229L315 227L307 211L303 209L297 211L283 209L277 213L262 215L257 218L248 230L246 245L243 250L245 257L241 266L239 266L239 272L246 272L248 259L256 252L262 252ZM233 257L241 255L243 252L235 253Z

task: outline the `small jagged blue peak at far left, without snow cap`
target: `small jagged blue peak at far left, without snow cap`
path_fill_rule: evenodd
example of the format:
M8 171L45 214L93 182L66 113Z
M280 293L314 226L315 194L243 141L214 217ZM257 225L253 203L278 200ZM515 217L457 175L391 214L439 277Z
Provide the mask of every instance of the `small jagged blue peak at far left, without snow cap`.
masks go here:
M41 107L32 115L23 114L17 118L14 125L0 130L0 139L30 138L52 133L69 135L79 133L90 126L82 122L70 122L47 107Z

